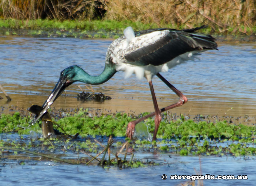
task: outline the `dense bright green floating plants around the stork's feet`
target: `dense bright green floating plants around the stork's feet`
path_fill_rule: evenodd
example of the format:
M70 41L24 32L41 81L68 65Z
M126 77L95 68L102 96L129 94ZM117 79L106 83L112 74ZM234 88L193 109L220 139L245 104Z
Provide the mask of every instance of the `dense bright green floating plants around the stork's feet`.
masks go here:
M59 126L60 131L64 130L71 135L79 133L80 137L86 137L87 135L92 137L110 135L125 137L128 122L135 118L120 113L91 116L88 114L88 110L80 109L77 114L57 119L55 128ZM135 149L154 148L158 151L180 155L255 156L254 139L256 129L253 126L233 125L228 124L227 121L195 122L191 119L185 119L182 115L176 121L168 119L166 114L164 118L161 121L157 136L158 139L162 140L157 142L134 140L130 145ZM30 121L29 116L22 116L18 112L13 115L1 114L0 131L2 133L16 132L21 136L31 134L31 132L41 133L38 124L29 126ZM147 119L144 125L147 126L144 132L147 133L148 130L152 134L154 118Z

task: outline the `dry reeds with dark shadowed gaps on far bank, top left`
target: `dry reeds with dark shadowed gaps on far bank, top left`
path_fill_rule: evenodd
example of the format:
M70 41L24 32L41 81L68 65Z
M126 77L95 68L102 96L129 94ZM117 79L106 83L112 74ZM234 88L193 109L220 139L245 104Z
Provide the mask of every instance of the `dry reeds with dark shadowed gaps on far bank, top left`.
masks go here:
M102 18L98 0L0 0L0 16L13 19L93 19Z

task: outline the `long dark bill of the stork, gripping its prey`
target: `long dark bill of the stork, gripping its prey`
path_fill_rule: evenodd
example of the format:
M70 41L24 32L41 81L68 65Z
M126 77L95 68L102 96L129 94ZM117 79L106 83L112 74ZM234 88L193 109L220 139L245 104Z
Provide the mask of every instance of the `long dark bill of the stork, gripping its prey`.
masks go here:
M61 95L61 93L67 88L72 82L66 81L64 78L60 78L56 86L54 87L52 93L49 95L49 97L46 99L43 107L43 110L38 114L33 121L31 122L32 125L35 124L35 122L42 117L49 109L49 107L52 105L52 103Z

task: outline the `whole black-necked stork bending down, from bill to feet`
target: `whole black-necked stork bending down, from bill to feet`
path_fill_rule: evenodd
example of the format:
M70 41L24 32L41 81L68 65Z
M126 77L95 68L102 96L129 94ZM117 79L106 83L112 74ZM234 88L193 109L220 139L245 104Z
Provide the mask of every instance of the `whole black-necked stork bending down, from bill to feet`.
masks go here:
M186 96L170 84L159 72L167 72L172 68L187 60L194 60L200 52L217 49L217 43L211 35L196 33L195 31L206 26L194 29L150 29L134 32L132 27L124 30L124 36L114 40L106 53L106 64L103 72L98 76L90 76L82 68L71 66L60 73L60 79L54 87L52 93L42 106L42 112L34 118L36 122L58 98L58 96L69 85L76 81L87 84L102 84L108 81L117 71L124 71L125 77L133 73L148 81L155 112L148 114L135 121L131 121L127 126L127 136L132 138L135 125L139 122L155 115L155 130L153 140L156 139L158 127L163 111L181 106L187 102ZM157 75L172 91L180 97L177 103L159 109L155 98L152 77Z

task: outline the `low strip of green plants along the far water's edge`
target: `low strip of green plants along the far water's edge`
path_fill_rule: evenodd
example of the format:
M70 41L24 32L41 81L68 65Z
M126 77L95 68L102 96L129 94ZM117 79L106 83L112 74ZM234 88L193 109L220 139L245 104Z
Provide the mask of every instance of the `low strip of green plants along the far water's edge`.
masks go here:
M20 35L25 37L73 37L73 38L118 38L123 30L131 26L135 31L158 27L157 24L145 24L130 20L15 20L0 19L0 35ZM165 25L164 27L172 27ZM178 28L177 28L178 29ZM256 26L253 27L256 30ZM200 30L205 34L212 34L220 41L255 41L256 34L246 35L227 31L215 33L211 27ZM256 31L255 31L256 33Z

